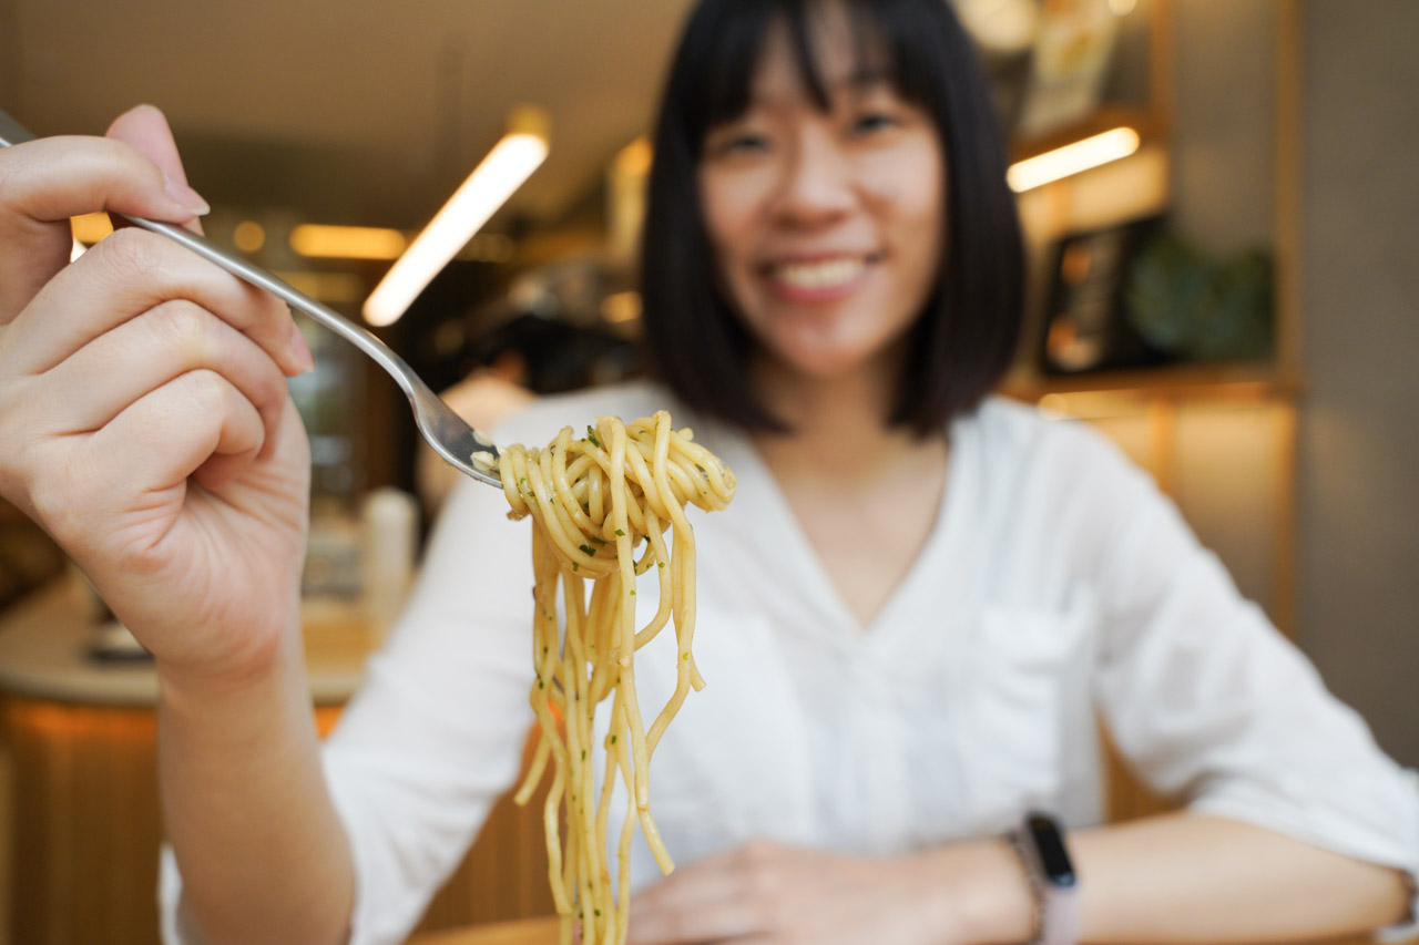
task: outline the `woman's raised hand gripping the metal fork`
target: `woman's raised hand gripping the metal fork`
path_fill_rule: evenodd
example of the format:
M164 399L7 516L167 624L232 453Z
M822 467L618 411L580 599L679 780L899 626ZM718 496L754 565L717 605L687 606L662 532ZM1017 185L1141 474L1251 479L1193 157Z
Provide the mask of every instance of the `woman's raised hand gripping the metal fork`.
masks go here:
M237 677L295 621L309 460L272 297L125 228L70 264L70 217L193 226L158 109L0 150L0 495L74 558L159 670Z

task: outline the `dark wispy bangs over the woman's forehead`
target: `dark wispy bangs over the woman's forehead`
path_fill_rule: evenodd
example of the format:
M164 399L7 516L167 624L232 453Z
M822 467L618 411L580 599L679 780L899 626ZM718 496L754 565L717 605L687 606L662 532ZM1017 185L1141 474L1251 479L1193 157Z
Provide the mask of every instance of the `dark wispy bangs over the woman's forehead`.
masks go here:
M915 62L920 50L910 38L908 17L894 16L900 4L874 0L771 0L722 4L702 24L695 62L684 75L694 77L678 91L688 131L702 139L712 128L741 118L749 108L752 84L769 34L783 27L797 64L799 79L813 104L830 108L830 92L815 50L824 17L837 7L847 18L853 44L851 81L887 81L914 105L929 105L929 70ZM710 7L702 7L710 13Z

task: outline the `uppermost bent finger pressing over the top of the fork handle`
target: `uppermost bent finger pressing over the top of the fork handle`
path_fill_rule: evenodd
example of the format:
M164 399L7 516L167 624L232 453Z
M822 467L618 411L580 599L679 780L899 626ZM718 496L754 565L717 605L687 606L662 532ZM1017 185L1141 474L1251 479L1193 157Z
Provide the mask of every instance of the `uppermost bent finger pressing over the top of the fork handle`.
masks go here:
M43 138L0 148L0 325L68 262L70 217L99 210L186 223L206 203L121 140Z

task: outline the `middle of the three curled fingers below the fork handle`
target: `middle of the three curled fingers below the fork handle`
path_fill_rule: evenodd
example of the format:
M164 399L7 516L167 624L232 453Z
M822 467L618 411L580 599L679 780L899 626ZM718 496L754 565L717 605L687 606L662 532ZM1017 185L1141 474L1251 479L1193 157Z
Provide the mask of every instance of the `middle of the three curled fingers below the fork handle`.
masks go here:
M263 451L275 447L285 376L255 342L187 301L163 302L50 370L47 389L87 393L53 399L45 426L54 436L98 430L145 394L194 370L216 372L231 383L261 416Z

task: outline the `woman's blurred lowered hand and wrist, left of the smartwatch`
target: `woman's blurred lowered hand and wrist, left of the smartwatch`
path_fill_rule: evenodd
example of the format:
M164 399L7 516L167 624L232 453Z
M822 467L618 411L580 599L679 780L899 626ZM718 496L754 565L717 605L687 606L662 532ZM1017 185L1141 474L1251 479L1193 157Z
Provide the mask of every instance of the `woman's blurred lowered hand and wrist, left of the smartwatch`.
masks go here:
M941 945L1012 941L1012 931L1026 941L1033 904L1013 856L999 841L851 857L755 840L636 895L627 941Z

